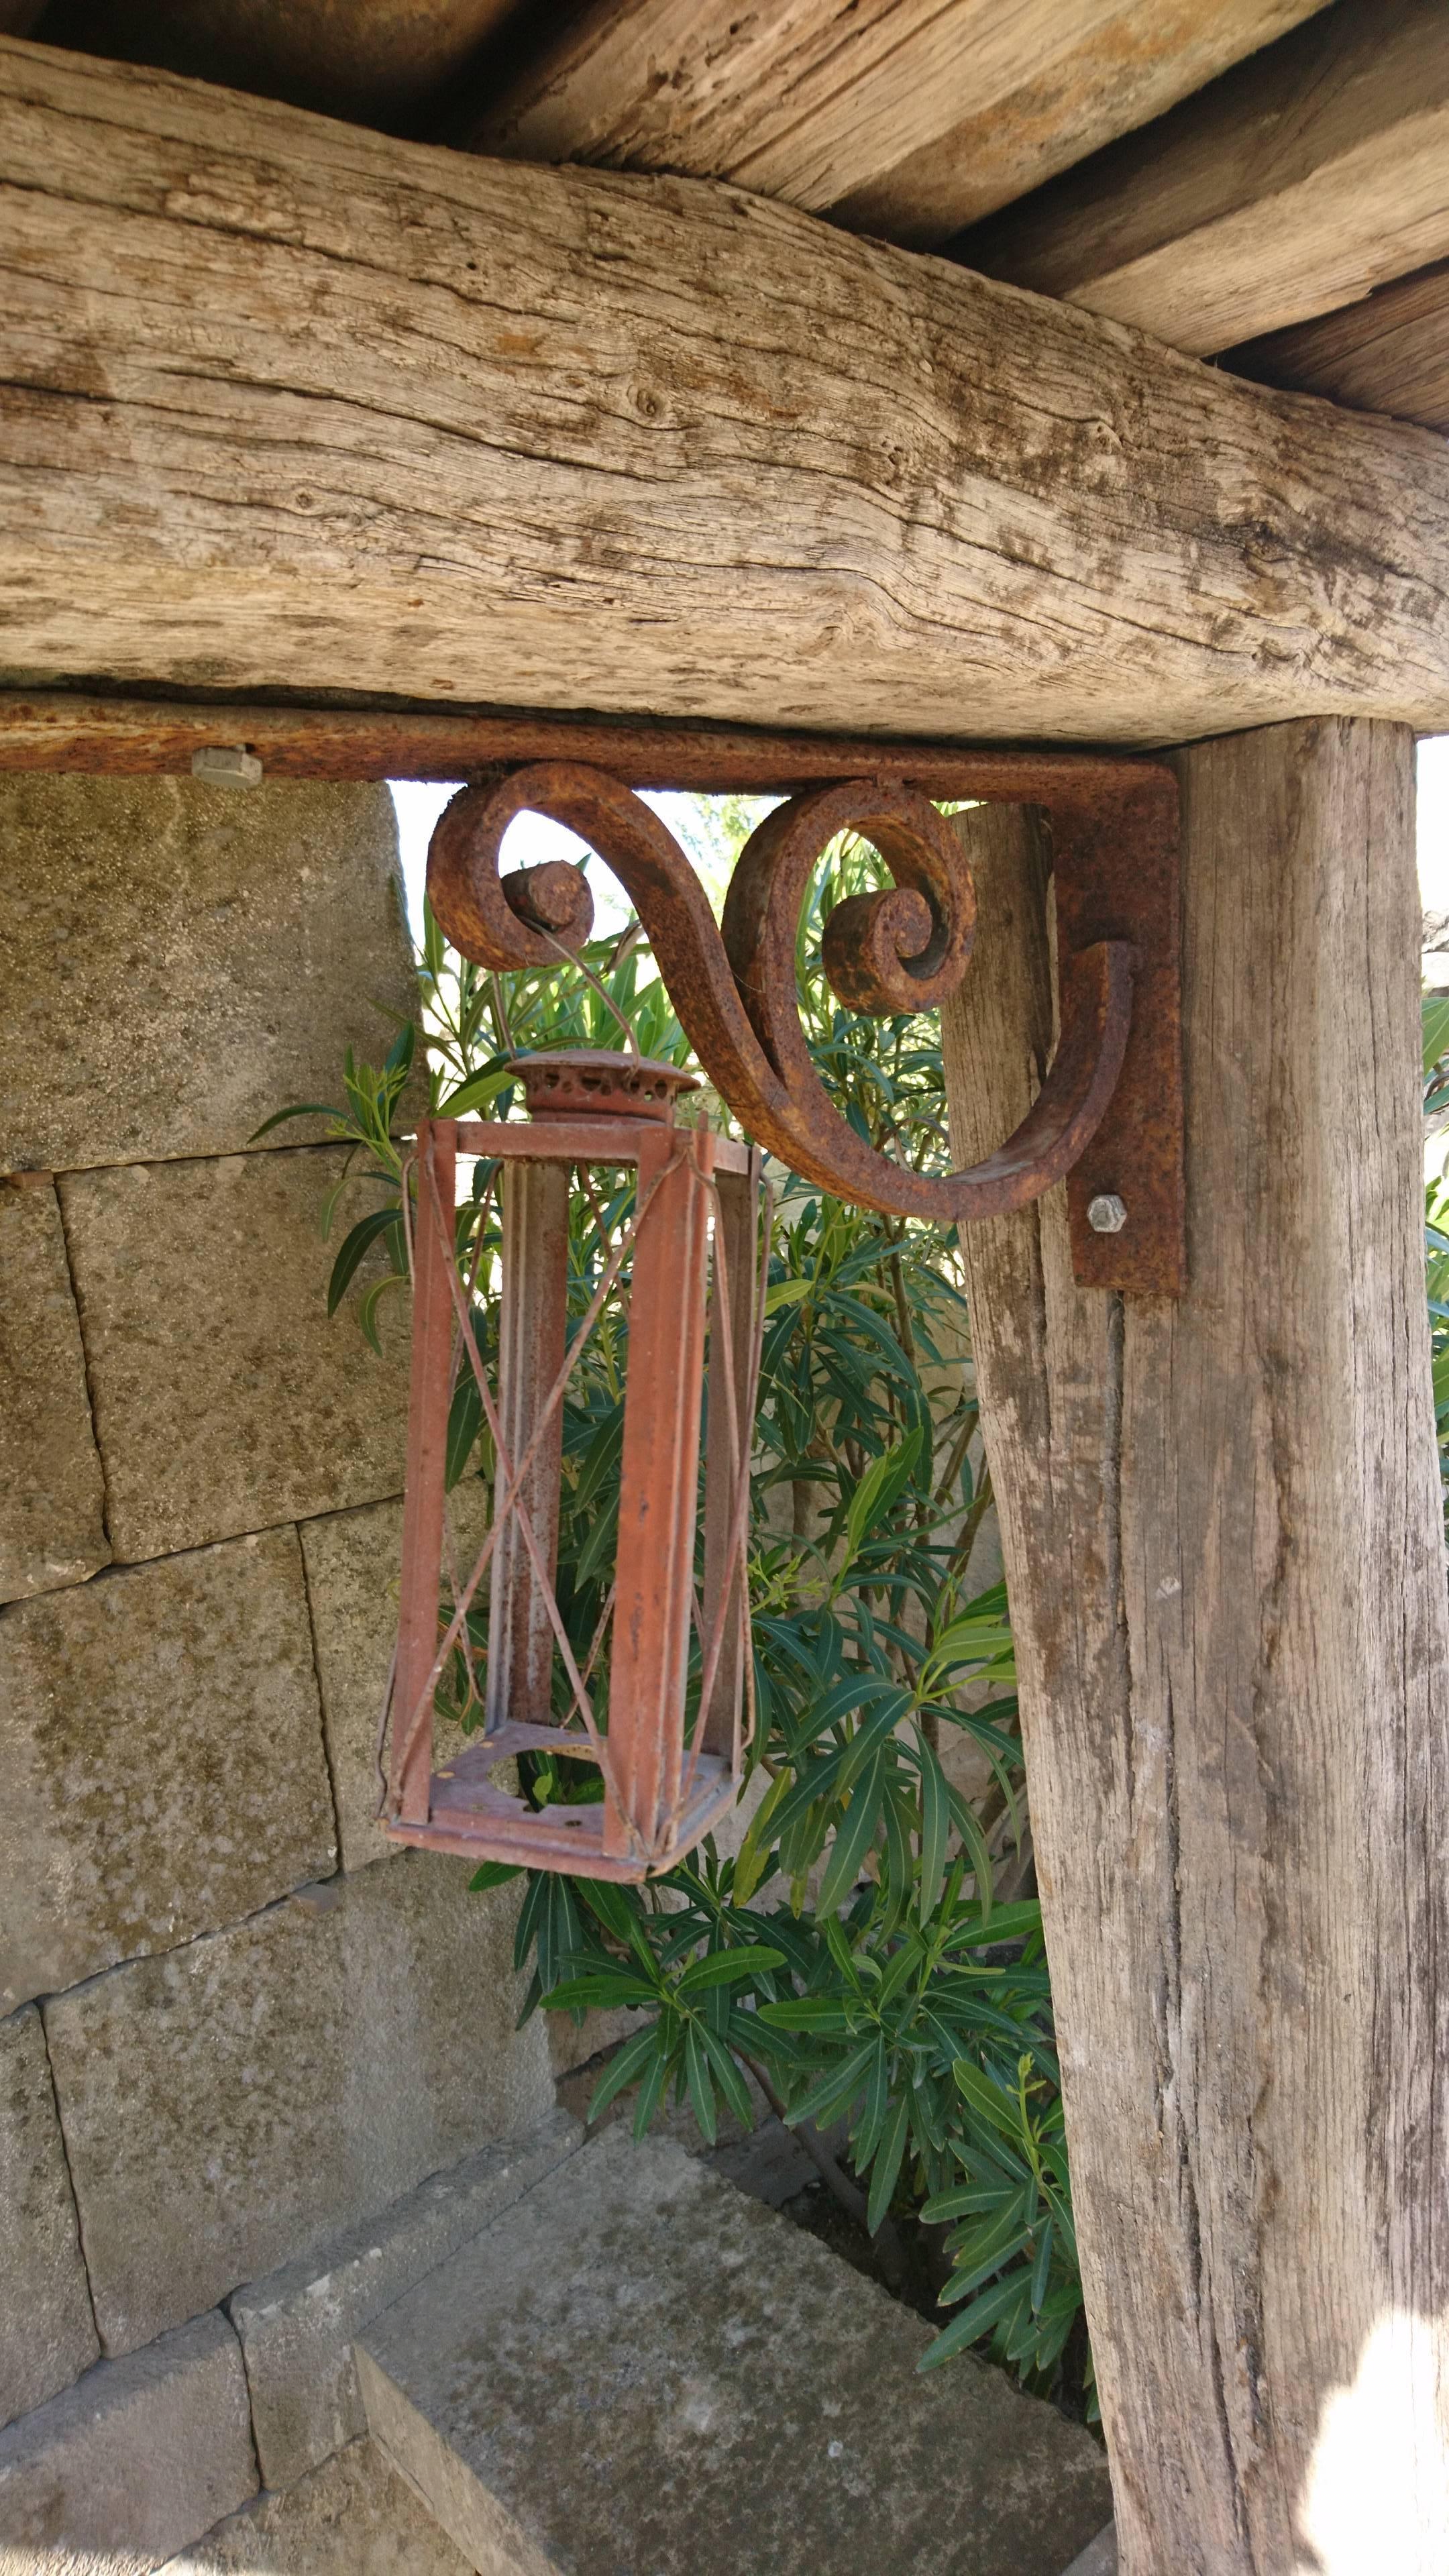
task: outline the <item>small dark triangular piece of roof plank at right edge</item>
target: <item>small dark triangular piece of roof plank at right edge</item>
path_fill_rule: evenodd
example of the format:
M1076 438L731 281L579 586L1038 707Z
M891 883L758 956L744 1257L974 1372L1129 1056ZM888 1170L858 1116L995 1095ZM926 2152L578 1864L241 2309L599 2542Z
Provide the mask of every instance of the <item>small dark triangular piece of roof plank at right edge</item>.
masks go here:
M1449 430L1449 260L1395 278L1336 314L1245 340L1225 350L1222 363L1256 384Z

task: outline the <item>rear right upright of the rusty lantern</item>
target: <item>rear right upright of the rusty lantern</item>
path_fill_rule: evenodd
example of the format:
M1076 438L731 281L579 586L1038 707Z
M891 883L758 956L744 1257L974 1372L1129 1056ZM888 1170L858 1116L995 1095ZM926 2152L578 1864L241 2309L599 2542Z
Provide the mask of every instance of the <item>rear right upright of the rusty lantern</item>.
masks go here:
M761 1200L761 1154L750 1149L748 1172L714 1175L714 1283L709 1301L709 1419L704 1435L704 1641L714 1636L719 1602L727 1592L719 1664L709 1708L701 1713L704 1752L737 1752L740 1700L745 1685L745 1600L740 1551L730 1546L740 1479L750 1473L750 1376L755 1355L755 1211ZM730 1394L735 1406L730 1409Z

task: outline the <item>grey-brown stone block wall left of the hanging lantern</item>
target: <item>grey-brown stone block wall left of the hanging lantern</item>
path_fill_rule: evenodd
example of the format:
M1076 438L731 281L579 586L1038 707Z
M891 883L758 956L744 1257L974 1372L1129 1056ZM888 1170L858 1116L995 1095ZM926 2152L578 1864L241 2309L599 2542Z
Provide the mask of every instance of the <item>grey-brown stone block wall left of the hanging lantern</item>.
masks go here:
M392 801L0 781L0 2568L441 2568L356 2445L253 2501L232 2321L552 2115L508 1891L374 1824L405 1314L253 1136L415 1005Z

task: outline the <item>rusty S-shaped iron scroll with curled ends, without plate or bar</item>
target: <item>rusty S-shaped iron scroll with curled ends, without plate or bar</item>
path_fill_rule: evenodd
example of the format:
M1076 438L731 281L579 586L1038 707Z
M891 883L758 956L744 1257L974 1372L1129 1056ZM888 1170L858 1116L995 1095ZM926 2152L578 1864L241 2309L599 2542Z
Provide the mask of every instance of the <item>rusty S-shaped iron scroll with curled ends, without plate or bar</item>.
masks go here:
M964 1172L913 1172L874 1151L833 1108L799 1028L794 943L812 871L841 829L895 884L835 907L822 933L833 992L869 1015L936 1010L964 981L975 935L967 855L928 796L851 778L776 806L745 842L724 920L668 824L606 770L541 760L459 788L433 832L428 899L462 956L498 971L554 966L593 927L580 868L500 873L516 814L578 832L634 904L699 1061L748 1136L794 1172L890 1216L962 1224L1029 1206L1078 1162L1111 1103L1132 1025L1134 948L1096 940L1062 961L1060 1041L1013 1136Z

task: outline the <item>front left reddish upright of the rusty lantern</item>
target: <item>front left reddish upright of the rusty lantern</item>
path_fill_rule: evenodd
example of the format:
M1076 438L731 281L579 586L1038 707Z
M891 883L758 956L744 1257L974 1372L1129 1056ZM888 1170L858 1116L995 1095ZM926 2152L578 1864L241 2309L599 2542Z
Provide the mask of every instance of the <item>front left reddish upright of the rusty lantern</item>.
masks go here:
M413 1224L413 1378L407 1396L407 1492L402 1499L402 1620L397 1631L389 1811L428 1821L433 1728L415 1726L438 1651L438 1584L449 1455L449 1352L454 1340L456 1126L418 1128L418 1213Z

